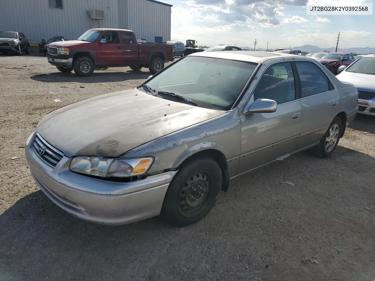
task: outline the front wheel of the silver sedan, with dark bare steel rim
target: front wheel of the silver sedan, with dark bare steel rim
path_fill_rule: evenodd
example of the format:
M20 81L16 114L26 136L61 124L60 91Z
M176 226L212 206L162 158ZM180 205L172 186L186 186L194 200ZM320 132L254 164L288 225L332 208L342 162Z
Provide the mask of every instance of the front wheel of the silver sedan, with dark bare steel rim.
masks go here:
M221 187L219 164L211 158L194 159L184 165L169 184L162 215L177 227L196 223L211 211Z

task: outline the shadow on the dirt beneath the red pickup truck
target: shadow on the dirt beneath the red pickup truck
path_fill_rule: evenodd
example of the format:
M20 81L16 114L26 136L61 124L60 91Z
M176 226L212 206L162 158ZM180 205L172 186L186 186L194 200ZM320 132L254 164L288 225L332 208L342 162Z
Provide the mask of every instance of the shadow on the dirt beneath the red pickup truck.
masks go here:
M92 76L80 77L75 73L54 72L48 74L34 75L30 78L35 81L47 83L59 82L79 82L79 83L101 83L101 82L121 82L132 79L147 79L150 72L126 71L126 72L94 72Z

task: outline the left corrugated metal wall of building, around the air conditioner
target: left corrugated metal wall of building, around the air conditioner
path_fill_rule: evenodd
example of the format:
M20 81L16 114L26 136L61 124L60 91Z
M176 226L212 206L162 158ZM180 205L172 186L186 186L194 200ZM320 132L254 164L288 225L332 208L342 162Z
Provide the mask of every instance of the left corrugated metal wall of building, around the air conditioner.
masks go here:
M104 20L91 20L87 10L104 10ZM63 0L50 9L48 0L0 0L0 29L25 33L30 42L55 35L77 39L90 28L118 28L118 0Z

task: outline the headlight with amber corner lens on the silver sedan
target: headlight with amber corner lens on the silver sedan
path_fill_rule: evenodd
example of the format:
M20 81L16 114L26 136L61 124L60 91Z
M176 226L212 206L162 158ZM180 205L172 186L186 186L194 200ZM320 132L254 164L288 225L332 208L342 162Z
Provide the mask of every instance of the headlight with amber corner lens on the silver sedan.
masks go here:
M99 156L77 156L71 160L69 170L101 177L128 177L144 175L150 168L152 157L110 158Z

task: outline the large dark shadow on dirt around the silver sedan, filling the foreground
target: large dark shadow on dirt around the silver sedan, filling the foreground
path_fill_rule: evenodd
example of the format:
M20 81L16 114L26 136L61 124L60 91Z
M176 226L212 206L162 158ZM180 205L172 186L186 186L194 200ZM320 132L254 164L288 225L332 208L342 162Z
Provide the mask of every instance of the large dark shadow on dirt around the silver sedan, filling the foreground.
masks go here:
M0 276L348 280L353 272L370 280L375 214L365 207L375 209L374 167L375 158L341 146L325 159L292 155L237 177L206 218L184 228L160 217L117 227L87 223L37 191L0 215ZM301 263L312 256L321 264Z

